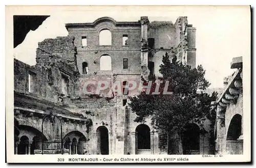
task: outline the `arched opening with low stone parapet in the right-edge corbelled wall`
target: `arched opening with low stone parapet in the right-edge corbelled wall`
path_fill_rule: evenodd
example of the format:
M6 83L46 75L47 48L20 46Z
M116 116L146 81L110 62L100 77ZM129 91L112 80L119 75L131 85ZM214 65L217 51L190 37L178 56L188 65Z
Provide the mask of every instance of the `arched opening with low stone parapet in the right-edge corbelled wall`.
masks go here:
M234 115L230 121L227 139L226 151L228 154L243 154L243 140L239 139L242 134L242 116Z

